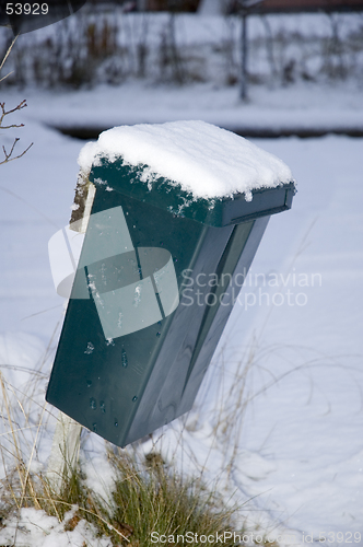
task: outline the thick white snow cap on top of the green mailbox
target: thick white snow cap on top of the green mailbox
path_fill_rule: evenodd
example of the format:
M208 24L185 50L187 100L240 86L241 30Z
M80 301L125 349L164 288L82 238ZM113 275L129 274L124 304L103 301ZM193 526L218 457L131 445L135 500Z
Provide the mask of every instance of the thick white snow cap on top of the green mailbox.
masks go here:
M128 165L147 165L141 181L162 176L195 198L221 198L272 188L292 181L290 168L277 156L243 137L204 121L172 121L115 127L96 143L83 147L79 164L90 173L101 158Z

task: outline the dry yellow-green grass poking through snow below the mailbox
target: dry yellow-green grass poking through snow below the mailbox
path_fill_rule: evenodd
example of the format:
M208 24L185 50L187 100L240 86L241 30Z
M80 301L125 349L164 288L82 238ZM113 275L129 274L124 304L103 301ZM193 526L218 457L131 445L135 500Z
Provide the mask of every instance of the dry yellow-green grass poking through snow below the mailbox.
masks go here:
M187 532L209 535L238 528L238 508L227 507L215 489L209 490L202 474L198 478L182 477L154 451L141 458L136 450L115 452L108 449L114 485L107 499L87 487L79 465L69 468L68 462L65 462L62 488L57 491L43 470L33 470L42 449L43 430L49 429L46 405L38 407L37 423L32 418L32 408L39 405L36 403L39 377L35 374L24 389L32 394L32 400L26 400L26 396L20 397L0 374L3 422L0 457L5 469L0 486L0 522L3 525L11 516L20 517L22 508L43 510L59 522L63 522L73 508L73 516L65 521L65 532L86 521L99 537L108 537L113 545L139 547L149 547L152 532L182 536ZM33 434L25 434L30 430ZM194 545L204 544L195 542ZM225 545L232 547L234 543Z

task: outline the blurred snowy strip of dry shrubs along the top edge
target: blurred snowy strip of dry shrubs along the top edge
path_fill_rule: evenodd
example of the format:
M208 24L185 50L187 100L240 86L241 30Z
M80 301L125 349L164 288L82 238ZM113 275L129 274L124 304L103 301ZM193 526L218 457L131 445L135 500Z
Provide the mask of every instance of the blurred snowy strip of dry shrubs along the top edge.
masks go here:
M2 85L235 86L244 65L250 94L296 82L362 83L362 0L90 0L22 35ZM0 28L2 55L11 37Z

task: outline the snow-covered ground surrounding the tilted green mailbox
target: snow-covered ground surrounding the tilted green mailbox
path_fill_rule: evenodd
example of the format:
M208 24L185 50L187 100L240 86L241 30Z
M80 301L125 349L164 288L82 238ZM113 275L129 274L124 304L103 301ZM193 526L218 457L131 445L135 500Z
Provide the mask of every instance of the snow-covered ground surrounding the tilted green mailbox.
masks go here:
M253 88L247 104L238 102L236 88L202 84L129 83L52 95L8 90L2 100L14 106L25 96L28 107L13 121L26 125L7 131L5 146L13 135L21 137L20 150L34 146L0 167L0 356L4 377L20 392L26 380L21 368L38 366L49 340L59 336L63 305L52 287L47 243L69 221L83 144L45 124L363 125L353 84ZM270 537L279 531L282 544L304 545L320 535L324 545L363 545L363 139L254 142L291 167L298 193L291 211L271 218L187 424L173 423L153 442L176 451L190 472L206 466L206 477L220 477L221 488L229 478L239 500L249 500L249 523L260 523ZM39 408L49 368L47 359L34 396ZM227 428L214 433L218 416ZM87 442L93 459L101 457L94 433ZM45 464L50 433L40 444Z

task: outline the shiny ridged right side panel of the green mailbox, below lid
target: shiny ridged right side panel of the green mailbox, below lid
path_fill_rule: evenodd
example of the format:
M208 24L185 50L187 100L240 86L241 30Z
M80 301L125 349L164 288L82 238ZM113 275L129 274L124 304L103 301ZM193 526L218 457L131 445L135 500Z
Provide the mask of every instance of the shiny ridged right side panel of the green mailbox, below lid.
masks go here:
M164 345L157 357L126 444L190 410L239 293L241 276L245 278L248 272L268 220L269 217L265 217L234 226L230 237L224 240L223 253L219 253L218 261L214 263L206 261L206 257L214 254L216 230L223 229L210 229L190 279L197 280L202 276L206 279L208 268L209 279L216 275L219 281L216 284L207 284L199 299L196 296L196 291L200 289L197 283L194 291L185 294L184 300L180 299L169 329L169 344ZM236 281L237 274L239 280ZM190 309L194 310L188 312L184 304L187 304L186 299L191 298L191 294L194 304ZM214 296L209 298L212 294ZM200 305L206 301L212 305ZM182 346L173 346L173 334L178 333L179 324L186 319L189 319L187 336Z

